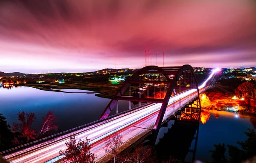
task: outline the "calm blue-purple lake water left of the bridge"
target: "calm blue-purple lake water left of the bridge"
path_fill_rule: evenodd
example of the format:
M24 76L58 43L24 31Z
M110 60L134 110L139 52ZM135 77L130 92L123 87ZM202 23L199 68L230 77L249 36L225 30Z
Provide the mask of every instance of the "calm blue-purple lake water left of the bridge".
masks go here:
M0 87L0 113L9 124L17 122L20 111L35 112L37 119L33 129L38 130L42 124L42 117L53 111L58 118L56 124L59 131L65 131L86 123L98 120L111 99L101 98L91 94L92 91L63 89L64 93L42 91L32 87ZM83 93L81 93L83 92ZM90 94L87 94L88 92ZM119 112L129 109L128 101L119 101ZM134 108L131 103L131 108ZM111 114L115 114L113 109Z

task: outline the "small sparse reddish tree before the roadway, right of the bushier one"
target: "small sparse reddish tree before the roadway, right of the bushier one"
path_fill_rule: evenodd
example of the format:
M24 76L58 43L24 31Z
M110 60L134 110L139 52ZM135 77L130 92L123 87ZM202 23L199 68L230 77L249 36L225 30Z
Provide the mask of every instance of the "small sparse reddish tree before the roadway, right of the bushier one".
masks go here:
M119 157L117 157L117 154L119 152L119 146L121 146L122 143L123 143L123 141L122 141L121 134L117 134L117 135L113 136L112 138L109 137L106 140L104 150L106 153L113 154L114 163L116 163L116 161L119 159Z

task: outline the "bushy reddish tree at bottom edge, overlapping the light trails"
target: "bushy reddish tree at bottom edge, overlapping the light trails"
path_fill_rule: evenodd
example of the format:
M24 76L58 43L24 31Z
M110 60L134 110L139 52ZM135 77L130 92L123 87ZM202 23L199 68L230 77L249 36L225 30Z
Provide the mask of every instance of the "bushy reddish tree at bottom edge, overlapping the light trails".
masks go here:
M60 150L59 154L64 155L62 160L69 160L70 163L95 163L95 155L90 152L92 146L87 137L84 140L76 141L75 136L65 143L66 150Z

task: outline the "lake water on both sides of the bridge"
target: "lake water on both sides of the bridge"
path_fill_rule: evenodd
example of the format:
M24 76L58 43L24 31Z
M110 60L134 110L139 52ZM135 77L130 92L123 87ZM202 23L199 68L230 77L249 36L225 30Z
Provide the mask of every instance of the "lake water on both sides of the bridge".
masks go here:
M84 90L63 90L74 93L42 91L31 87L0 87L0 113L2 113L9 124L17 122L17 114L20 111L35 112L37 119L33 124L33 129L38 130L42 123L42 117L49 111L53 111L58 117L58 131L64 131L76 126L98 120L110 99L95 96L95 92ZM75 93L77 92L77 93ZM87 93L90 94L87 94ZM119 112L128 109L127 101L119 101ZM136 107L131 103L131 107ZM112 114L115 114L115 110ZM209 150L213 150L213 144L225 143L236 145L237 141L246 140L247 128L253 128L255 118L248 116L236 116L237 113L218 111L209 113L209 119L199 126L198 143L195 159L211 160ZM173 121L168 123L168 127L160 129L158 140L162 140L167 135ZM180 140L182 141L182 140ZM192 147L195 140L192 142ZM164 142L163 144L168 144ZM172 146L166 146L173 148ZM190 160L191 155L187 155L186 160Z

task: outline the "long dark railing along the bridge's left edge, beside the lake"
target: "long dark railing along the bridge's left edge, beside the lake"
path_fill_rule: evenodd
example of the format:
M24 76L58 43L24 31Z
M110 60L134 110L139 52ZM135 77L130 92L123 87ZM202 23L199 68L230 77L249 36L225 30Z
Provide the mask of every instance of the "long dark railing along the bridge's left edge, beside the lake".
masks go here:
M151 104L151 103L150 103L150 104ZM87 123L87 124L84 124L84 125L75 127L75 128L73 128L73 129L69 129L69 130L66 130L66 131L64 131L64 132L59 132L59 133L57 133L57 134L53 134L53 135L51 135L51 136L44 137L44 138L42 138L42 139L35 140L35 141L30 142L30 143L23 144L23 145L21 145L21 146L17 146L17 147L12 148L12 149L8 149L8 150L6 150L6 151L0 152L0 154L3 155L3 154L6 154L6 153L10 153L10 152L12 152L12 151L15 152L15 151L18 150L18 149L27 148L27 147L29 147L29 146L31 146L31 145L33 145L33 144L42 143L42 142L44 142L44 141L46 141L46 140L48 140L48 139L52 139L53 137L59 137L59 136L64 135L64 134L68 134L68 133L74 132L74 131L76 131L76 130L78 130L78 129L82 129L82 128L84 128L84 127L88 127L88 126L91 126L91 125L93 125L93 124L96 124L96 123L99 123L99 122L102 122L102 121L105 121L105 120L109 120L109 119L111 119L111 118L113 118L113 117L116 117L116 116L119 116L119 115L121 115L121 114L125 114L125 113L127 113L127 112L131 112L131 111L136 110L136 109L143 109L143 108L145 108L145 106L148 106L148 105L150 105L150 104L145 104L145 105L142 105L142 106L138 106L138 107L135 107L135 108L133 108L133 109L130 109L130 110L127 110L127 111L124 111L124 112L120 112L120 113L118 113L118 114L111 115L111 116L109 116L109 117L107 117L107 118L105 118L105 119L102 119L102 120L95 120L95 121L93 121L93 122L90 122L90 123Z

